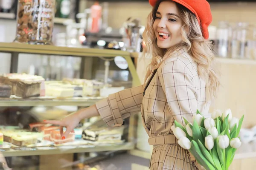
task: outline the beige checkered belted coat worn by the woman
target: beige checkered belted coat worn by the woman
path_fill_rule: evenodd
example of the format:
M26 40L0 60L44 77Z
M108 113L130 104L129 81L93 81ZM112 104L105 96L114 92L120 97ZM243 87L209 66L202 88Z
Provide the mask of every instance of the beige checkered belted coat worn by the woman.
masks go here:
M198 109L208 113L205 82L198 76L197 63L184 50L163 62L145 90L138 86L111 94L96 103L109 126L120 126L123 119L141 111L143 125L154 145L151 170L197 170L187 150L179 147L171 126L174 120L192 122Z

